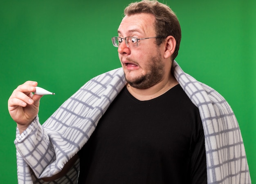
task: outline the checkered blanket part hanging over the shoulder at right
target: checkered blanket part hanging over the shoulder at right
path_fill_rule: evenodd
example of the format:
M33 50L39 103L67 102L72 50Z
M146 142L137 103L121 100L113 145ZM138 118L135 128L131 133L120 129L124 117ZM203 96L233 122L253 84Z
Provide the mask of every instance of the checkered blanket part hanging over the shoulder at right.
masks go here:
M198 107L204 127L209 184L250 184L243 139L227 101L174 63L175 78Z

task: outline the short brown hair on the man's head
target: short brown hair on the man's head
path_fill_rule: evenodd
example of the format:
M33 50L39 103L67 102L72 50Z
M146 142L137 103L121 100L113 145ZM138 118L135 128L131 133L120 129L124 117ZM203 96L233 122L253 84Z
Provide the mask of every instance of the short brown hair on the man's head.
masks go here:
M169 35L172 35L176 40L176 47L171 59L174 60L180 49L181 28L180 23L175 13L165 4L159 3L156 0L142 0L129 4L124 10L125 16L130 16L137 13L150 13L155 17L155 33L157 36L157 45Z

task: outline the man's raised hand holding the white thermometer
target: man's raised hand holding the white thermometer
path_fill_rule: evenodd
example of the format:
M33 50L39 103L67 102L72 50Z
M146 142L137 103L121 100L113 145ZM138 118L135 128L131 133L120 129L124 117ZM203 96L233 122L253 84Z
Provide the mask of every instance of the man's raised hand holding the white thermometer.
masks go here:
M20 133L25 131L39 111L42 95L35 95L37 82L27 81L18 86L8 100L8 110L12 119L17 123Z

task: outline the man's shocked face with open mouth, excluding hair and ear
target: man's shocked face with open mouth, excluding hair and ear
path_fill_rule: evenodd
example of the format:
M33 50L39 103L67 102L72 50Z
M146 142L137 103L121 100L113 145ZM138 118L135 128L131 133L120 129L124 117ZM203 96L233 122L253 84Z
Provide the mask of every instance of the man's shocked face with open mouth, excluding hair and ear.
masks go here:
M157 36L155 18L148 13L125 16L119 26L118 36L148 38ZM156 38L138 40L138 47L127 47L123 41L118 48L119 59L127 82L137 89L146 89L166 76L163 47L155 44Z

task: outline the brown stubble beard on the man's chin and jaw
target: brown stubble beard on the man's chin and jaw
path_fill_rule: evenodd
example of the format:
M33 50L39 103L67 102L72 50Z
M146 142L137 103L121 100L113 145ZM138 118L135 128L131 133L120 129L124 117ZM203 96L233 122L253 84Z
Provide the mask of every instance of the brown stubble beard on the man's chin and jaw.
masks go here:
M160 54L152 57L147 67L149 71L145 75L139 75L132 80L126 78L128 84L137 89L146 89L162 80L164 76L164 64L162 63Z

